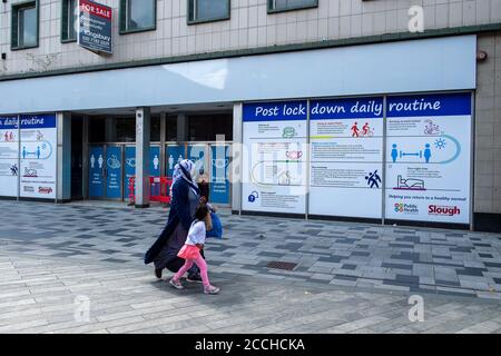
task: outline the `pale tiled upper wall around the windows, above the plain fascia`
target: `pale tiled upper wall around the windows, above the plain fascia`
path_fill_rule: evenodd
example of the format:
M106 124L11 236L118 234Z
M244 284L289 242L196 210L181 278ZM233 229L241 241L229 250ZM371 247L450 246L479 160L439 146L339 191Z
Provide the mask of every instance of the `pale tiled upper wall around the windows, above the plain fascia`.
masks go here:
M157 0L157 30L118 34L118 0L100 0L115 16L112 57L60 42L60 0L40 0L40 47L10 51L9 0L0 3L0 76L86 65L124 62L304 43L407 31L407 9L423 6L425 29L501 22L501 0L318 0L318 8L268 14L266 0L232 0L230 20L187 26L187 0Z

